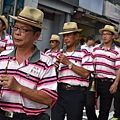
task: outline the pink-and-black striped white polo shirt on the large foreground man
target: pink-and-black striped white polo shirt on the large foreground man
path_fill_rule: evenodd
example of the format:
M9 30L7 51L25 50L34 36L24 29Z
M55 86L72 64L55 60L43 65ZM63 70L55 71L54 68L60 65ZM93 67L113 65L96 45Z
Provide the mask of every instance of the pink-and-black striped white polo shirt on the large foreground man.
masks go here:
M0 74L4 73L10 59L7 74L13 75L23 86L30 89L41 90L57 99L57 77L51 58L40 52L37 48L34 54L20 65L15 58L15 50L8 55L0 56ZM2 88L0 107L5 111L37 115L46 111L47 106L29 100L18 92Z

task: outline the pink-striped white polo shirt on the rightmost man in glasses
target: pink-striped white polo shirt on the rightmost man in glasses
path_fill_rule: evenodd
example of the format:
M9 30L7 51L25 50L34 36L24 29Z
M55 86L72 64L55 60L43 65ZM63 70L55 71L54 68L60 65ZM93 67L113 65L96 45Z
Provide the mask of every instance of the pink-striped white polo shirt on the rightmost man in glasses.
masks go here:
M96 78L116 78L116 70L120 68L120 52L112 44L110 49L104 49L103 43L93 49L94 64L96 64Z

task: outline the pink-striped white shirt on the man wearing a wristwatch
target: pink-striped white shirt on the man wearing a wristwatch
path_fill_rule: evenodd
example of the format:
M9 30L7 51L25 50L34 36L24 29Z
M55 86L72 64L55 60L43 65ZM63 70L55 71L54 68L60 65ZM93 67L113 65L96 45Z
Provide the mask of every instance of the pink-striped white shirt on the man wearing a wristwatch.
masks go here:
M93 59L91 53L86 50L76 49L73 52L63 53L67 58L76 66L83 67L89 71L93 71ZM88 87L89 80L76 74L74 71L68 68L68 66L60 63L58 82L68 83L70 85L81 85Z

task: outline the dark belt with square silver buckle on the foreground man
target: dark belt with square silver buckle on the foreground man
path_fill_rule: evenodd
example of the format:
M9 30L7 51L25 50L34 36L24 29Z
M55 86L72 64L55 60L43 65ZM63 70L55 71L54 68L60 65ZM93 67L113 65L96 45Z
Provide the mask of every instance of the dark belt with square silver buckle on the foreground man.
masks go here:
M34 116L34 115L26 115L25 113L17 113L17 112L12 112L12 111L4 111L2 109L0 109L0 114L4 115L5 117L8 118L32 118L32 117L38 117L38 116Z

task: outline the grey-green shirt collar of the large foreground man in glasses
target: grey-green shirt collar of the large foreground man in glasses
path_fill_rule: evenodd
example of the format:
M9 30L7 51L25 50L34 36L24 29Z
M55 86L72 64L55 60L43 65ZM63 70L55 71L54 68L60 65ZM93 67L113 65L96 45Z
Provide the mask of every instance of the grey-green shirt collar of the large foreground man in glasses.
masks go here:
M15 52L16 52L16 48L11 53L9 53L8 56L10 58L15 57ZM34 53L32 54L32 56L29 57L28 61L30 63L35 63L38 60L40 60L40 50L37 48L37 46L35 46Z

